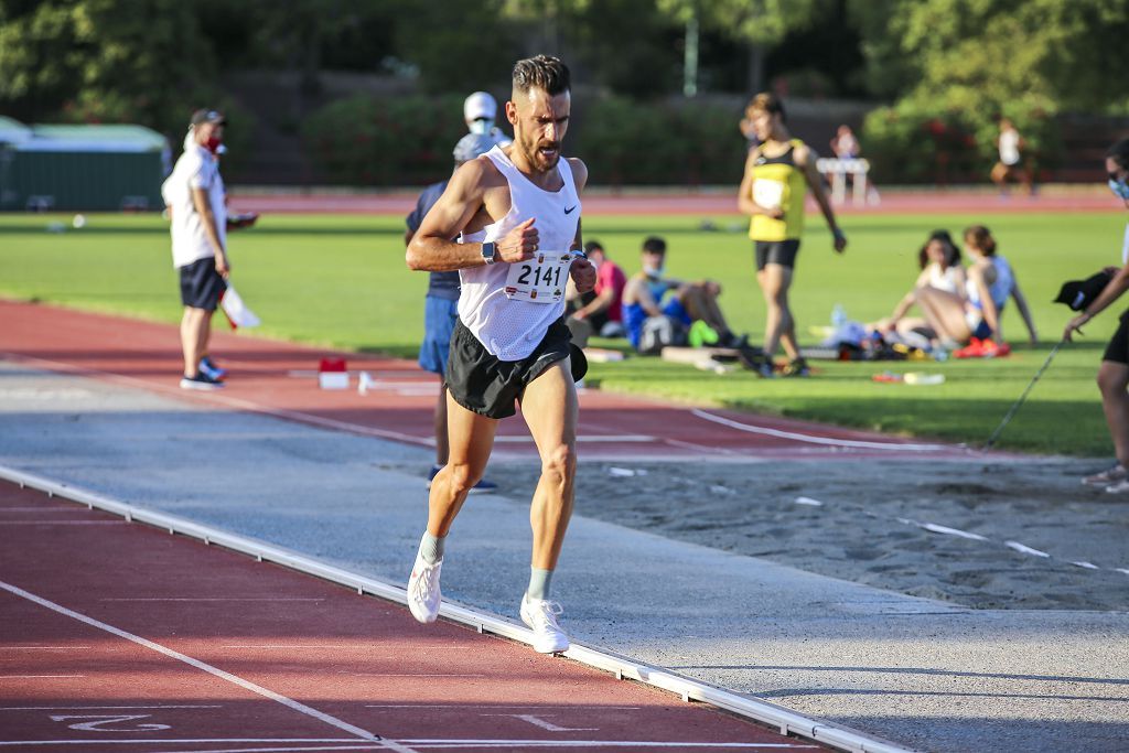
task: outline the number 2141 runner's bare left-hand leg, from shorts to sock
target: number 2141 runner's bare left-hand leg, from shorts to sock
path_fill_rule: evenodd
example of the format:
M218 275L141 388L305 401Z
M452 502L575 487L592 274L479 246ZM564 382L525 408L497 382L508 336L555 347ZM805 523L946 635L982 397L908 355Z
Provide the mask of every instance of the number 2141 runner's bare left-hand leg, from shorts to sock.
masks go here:
M466 494L482 479L493 449L498 419L466 410L447 393L447 439L450 447L447 465L431 480L427 529L432 536L447 535L466 501Z

